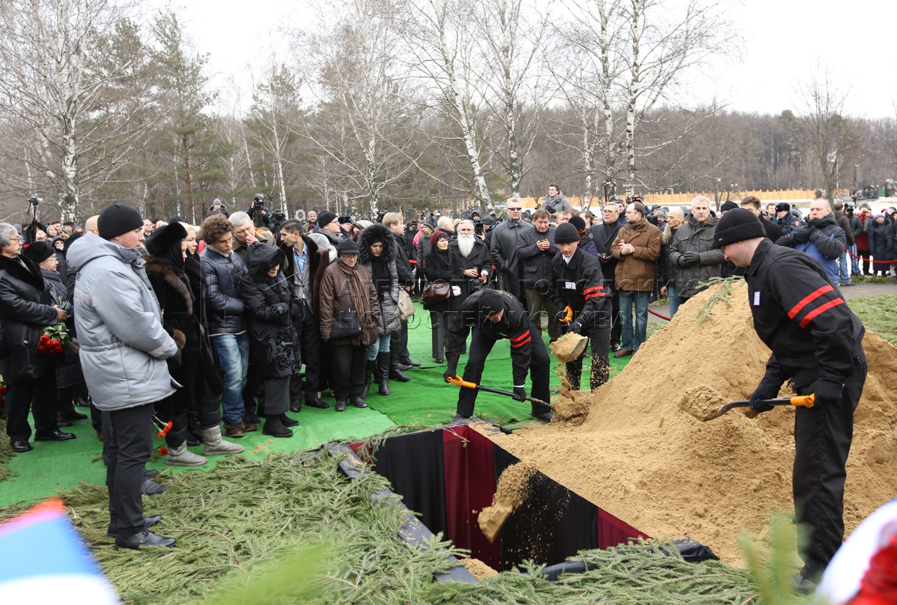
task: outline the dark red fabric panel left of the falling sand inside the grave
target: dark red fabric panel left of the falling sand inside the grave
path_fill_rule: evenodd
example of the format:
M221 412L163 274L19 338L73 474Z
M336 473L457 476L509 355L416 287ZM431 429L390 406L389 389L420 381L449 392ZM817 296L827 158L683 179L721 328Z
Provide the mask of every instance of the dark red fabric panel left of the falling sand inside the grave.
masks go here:
M492 505L495 495L495 467L492 441L475 430L455 428L458 436L442 431L446 486L446 537L462 549L470 549L471 557L492 569L501 569L501 537L490 544L480 532L476 517Z

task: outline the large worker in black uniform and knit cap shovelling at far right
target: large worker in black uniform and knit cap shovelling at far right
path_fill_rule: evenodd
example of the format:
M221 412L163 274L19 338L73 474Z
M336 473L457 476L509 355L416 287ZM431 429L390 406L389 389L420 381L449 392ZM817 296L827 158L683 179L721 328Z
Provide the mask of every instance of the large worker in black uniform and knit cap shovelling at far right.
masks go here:
M797 523L810 531L794 583L808 592L844 538L845 463L866 382L865 329L820 264L765 235L753 212L738 208L719 220L713 239L727 260L747 267L753 328L772 351L751 408L771 410L762 400L776 397L788 379L797 394L815 395L814 407L795 414L792 478Z

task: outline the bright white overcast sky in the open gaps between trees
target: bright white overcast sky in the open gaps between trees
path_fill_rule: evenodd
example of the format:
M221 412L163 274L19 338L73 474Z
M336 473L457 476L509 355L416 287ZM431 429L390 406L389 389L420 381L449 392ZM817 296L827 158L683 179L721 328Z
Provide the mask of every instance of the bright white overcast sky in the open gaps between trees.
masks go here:
M223 105L231 103L234 88L248 98L250 74L259 73L273 49L283 55L281 30L290 23L312 21L307 8L312 4L314 0L191 0L179 9L196 47L210 53ZM701 96L716 97L742 111L799 111L797 83L822 62L849 89L849 114L894 116L893 0L744 0L729 9L727 17L735 25L729 38L741 48L742 60L705 69L704 77L695 81L700 82L695 89Z

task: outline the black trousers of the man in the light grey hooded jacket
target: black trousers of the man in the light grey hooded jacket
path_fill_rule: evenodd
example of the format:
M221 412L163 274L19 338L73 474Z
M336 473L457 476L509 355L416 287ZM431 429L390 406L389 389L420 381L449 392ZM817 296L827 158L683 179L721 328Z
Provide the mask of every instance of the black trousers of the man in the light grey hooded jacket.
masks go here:
M104 412L109 418L109 431L103 435L109 517L118 523L118 533L123 536L144 531L140 488L152 454L152 407L147 403Z

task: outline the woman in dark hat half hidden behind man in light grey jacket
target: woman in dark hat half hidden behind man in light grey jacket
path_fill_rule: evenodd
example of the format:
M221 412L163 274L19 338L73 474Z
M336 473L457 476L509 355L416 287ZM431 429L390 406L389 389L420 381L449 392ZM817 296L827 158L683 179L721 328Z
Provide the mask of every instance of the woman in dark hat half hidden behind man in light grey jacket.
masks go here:
M22 253L40 268L40 274L44 277L47 290L60 308L69 312L65 320L65 328L70 336L74 335L74 316L71 315L72 300L65 289L65 284L57 270L57 255L47 242L35 242L25 248ZM81 371L81 363L78 355L71 350L63 350L57 360L57 424L60 427L71 427L74 420L87 419L87 414L82 414L74 409L75 387L80 386L79 392L86 391L84 375Z

